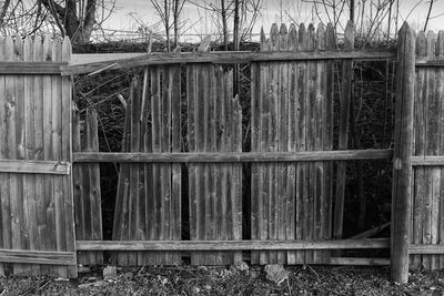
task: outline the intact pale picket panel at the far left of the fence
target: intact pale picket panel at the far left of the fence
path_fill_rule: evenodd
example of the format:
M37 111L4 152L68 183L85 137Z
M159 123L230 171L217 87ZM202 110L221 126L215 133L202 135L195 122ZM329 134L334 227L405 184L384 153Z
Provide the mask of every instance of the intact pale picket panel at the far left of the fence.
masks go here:
M0 62L29 64L69 61L68 39L20 38L0 40ZM43 64L42 64L43 65ZM48 63L47 63L48 65ZM13 68L13 64L11 64ZM37 67L37 65L36 65ZM0 162L42 161L53 171L71 162L71 79L44 71L40 74L0 73ZM0 265L0 273L18 275L57 274L75 277L74 225L69 170L64 173L0 173L1 248L70 252L62 265L13 263ZM37 254L37 253L36 253ZM43 262L37 258L32 262ZM51 263L51 261L48 261ZM58 261L54 264L60 264ZM9 271L8 271L9 269Z

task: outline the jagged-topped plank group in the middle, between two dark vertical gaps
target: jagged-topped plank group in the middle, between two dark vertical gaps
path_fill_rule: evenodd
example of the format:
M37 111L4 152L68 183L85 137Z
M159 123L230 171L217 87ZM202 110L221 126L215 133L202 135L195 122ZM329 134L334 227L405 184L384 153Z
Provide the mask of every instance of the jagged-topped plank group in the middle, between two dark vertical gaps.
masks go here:
M190 152L242 152L242 110L233 73L213 64L188 65ZM189 164L190 239L242 238L242 164ZM195 265L242 261L241 252L193 252Z

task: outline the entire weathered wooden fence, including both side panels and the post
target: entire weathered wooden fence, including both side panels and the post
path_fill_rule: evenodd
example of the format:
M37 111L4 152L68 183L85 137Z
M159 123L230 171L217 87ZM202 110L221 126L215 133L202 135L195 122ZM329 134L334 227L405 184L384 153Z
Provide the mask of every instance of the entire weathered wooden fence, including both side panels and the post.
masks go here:
M389 238L341 238L345 161L392 156L392 277L406 282L408 266L442 268L444 33L415 37L403 25L394 150L350 151L352 60L395 58L350 51L352 29L345 50L335 49L331 27L273 25L260 52L70 65L69 40L0 40L0 273L75 277L78 262L101 264L104 251L119 265L181 264L185 255L235 264L246 254L253 264L387 264L331 251L390 247ZM251 64L246 111L233 93L235 63ZM122 152L99 152L94 112L83 125L71 115L70 75L135 67L143 71L128 99ZM113 241L102 241L100 162L120 163Z

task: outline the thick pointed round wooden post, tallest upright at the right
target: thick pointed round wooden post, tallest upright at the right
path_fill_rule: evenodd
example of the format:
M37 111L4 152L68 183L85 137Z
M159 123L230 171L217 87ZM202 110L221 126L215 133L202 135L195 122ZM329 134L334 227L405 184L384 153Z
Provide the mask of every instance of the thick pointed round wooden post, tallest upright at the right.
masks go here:
M397 95L393 153L392 280L408 280L408 233L412 195L413 110L415 83L414 31L404 22L397 39Z

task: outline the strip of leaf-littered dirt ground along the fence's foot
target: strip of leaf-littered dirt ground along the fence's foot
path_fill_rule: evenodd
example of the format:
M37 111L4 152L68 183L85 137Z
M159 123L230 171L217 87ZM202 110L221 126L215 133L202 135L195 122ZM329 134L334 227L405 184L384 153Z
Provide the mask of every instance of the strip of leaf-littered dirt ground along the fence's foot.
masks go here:
M263 267L102 268L77 280L2 277L0 295L444 295L444 271L411 272L410 283L389 280L389 267L287 266L287 279L268 279Z

